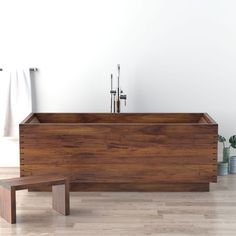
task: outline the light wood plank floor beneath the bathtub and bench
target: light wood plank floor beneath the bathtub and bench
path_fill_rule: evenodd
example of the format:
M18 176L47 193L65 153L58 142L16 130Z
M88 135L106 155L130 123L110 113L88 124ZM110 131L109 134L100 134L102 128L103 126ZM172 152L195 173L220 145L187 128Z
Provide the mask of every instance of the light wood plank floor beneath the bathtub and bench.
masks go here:
M19 175L0 168L0 179ZM17 192L17 224L0 235L236 235L236 175L206 193L71 193L71 215L51 208L51 193Z

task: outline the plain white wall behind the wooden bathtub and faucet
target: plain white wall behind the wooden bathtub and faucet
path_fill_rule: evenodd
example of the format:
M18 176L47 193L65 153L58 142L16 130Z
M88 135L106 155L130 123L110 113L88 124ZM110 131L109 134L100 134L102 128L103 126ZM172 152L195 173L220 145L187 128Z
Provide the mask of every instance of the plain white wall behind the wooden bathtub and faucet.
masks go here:
M124 112L206 111L236 134L236 1L0 2L0 67L39 68L35 111L108 112L120 63Z

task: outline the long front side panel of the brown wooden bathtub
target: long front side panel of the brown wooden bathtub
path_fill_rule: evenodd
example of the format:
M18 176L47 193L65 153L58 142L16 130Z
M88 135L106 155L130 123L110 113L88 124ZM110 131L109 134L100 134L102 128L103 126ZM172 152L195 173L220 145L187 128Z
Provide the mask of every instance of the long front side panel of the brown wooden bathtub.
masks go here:
M216 181L217 125L22 124L21 176L69 174L78 183Z

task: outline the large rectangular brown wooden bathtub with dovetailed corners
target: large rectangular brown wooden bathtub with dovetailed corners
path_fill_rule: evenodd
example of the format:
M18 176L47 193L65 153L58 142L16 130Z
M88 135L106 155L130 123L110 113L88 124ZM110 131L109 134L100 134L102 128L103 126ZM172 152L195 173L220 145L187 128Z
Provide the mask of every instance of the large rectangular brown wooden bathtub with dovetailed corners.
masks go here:
M209 191L217 134L206 113L35 113L20 174L70 174L72 191Z

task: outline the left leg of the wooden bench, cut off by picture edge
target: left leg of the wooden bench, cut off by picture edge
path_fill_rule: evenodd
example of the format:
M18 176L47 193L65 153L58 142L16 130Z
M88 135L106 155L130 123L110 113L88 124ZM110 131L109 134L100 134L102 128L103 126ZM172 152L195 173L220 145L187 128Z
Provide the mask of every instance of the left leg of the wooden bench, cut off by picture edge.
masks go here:
M0 186L0 216L11 224L16 223L16 192Z

